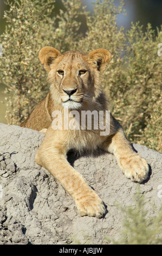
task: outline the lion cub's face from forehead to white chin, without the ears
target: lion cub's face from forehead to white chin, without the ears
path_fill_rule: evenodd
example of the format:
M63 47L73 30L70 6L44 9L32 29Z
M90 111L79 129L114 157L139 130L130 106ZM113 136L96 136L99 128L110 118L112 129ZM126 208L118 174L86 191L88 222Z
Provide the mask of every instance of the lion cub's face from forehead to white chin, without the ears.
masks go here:
M81 107L88 92L93 73L80 52L66 52L51 65L51 75L60 92L63 107Z

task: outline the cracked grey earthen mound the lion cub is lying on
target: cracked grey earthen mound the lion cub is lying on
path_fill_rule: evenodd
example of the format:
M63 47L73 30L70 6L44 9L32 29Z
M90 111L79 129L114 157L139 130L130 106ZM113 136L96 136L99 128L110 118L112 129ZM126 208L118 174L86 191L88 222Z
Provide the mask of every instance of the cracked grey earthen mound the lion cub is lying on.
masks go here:
M124 214L117 205L135 206L138 184L121 173L113 155L69 157L108 211L101 219L80 217L69 194L35 163L44 134L0 124L0 137L1 244L99 245L109 243L106 237L120 238ZM148 215L153 216L157 213L153 209L162 203L162 154L138 144L133 147L150 164L150 177L140 184L140 193L148 202Z

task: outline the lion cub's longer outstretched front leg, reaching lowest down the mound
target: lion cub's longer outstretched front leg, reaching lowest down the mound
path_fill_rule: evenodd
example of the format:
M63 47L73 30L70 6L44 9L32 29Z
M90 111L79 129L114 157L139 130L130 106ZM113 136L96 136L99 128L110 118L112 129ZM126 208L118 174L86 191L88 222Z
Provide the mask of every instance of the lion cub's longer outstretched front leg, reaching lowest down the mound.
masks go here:
M48 147L47 147L48 144ZM81 216L102 217L105 212L100 197L88 186L83 176L78 173L63 154L63 147L57 143L57 147L51 145L44 138L43 143L36 153L36 162L49 170L49 172L61 183L65 190L74 198L77 209Z

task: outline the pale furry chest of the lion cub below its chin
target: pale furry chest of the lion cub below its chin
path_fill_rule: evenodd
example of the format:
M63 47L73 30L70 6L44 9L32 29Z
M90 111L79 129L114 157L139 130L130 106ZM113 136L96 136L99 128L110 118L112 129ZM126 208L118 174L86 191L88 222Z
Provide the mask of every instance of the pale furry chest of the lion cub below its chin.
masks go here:
M88 123L87 120L90 118L83 119L81 114L77 116L76 111L73 113L75 114L75 118L68 112L61 115L59 113L57 111L55 115L52 115L53 121L51 127L55 130L55 139L59 137L60 143L67 150L75 149L80 152L85 150L93 151L105 140L106 136L100 136L101 130L97 118L93 118Z

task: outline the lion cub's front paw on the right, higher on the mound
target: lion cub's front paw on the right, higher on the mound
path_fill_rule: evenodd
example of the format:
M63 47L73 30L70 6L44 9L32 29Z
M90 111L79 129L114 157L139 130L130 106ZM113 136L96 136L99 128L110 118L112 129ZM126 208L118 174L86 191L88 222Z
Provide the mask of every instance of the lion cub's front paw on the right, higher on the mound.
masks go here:
M148 164L138 154L134 153L131 156L123 157L120 160L122 170L126 177L132 181L142 182L147 179L148 176Z

